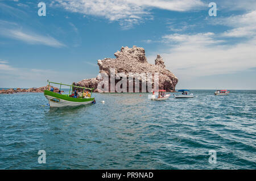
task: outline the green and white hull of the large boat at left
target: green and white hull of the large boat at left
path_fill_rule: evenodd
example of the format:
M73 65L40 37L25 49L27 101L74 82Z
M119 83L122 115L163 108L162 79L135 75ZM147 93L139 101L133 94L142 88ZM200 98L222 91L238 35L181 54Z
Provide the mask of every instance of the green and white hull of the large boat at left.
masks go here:
M61 95L48 90L44 91L44 96L49 101L50 107L80 106L90 104L94 100L94 98L71 98L68 95Z

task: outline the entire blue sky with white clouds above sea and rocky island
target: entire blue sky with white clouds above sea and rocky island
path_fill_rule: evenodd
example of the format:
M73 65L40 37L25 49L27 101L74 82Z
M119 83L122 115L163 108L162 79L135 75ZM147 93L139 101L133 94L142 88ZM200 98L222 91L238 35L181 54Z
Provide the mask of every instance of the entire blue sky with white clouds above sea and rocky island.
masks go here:
M0 87L93 78L133 45L163 57L176 89L256 89L254 0L0 0Z

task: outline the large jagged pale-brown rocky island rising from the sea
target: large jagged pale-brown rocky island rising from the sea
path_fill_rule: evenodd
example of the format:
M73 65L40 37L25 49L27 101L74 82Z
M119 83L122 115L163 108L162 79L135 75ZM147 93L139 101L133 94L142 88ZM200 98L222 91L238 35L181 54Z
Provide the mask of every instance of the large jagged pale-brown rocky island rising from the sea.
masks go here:
M100 68L99 73L108 74L109 79L110 69L115 70L115 75L117 73L125 73L127 79L129 78L129 73L152 73L153 75L155 73L158 73L159 89L164 89L170 92L175 91L175 86L178 82L178 79L170 70L166 69L164 61L159 54L156 56L155 65L149 64L147 62L145 50L141 47L122 47L120 51L114 53L114 56L115 58L105 58L104 60L98 60L98 66ZM89 87L93 88L95 92L101 92L101 90L97 89L98 83L100 83L101 81L102 78L98 76L96 78L83 79L82 81L77 83L73 82L73 85ZM141 79L140 83L142 81L143 80ZM117 82L118 80L115 80L115 84ZM141 85L139 86L139 88L139 91L141 92Z

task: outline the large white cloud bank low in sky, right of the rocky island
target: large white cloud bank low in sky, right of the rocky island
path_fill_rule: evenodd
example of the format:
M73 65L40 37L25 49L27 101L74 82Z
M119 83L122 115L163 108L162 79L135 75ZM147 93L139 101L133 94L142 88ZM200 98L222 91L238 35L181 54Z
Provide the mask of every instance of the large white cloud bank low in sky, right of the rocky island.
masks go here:
M168 69L177 77L200 77L205 75L235 73L256 67L256 39L235 45L220 44L214 33L172 34L163 37L166 44L176 43L169 49L162 50ZM155 54L155 53L154 53ZM155 56L148 60L153 62Z

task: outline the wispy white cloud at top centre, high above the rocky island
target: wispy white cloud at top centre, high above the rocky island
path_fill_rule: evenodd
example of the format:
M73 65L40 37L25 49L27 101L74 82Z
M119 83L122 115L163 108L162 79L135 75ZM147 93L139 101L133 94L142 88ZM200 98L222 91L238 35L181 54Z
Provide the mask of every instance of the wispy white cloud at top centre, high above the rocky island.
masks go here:
M151 9L189 11L204 6L204 3L201 0L56 0L56 5L71 12L118 21L127 28L142 22L150 15Z

